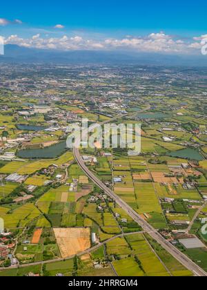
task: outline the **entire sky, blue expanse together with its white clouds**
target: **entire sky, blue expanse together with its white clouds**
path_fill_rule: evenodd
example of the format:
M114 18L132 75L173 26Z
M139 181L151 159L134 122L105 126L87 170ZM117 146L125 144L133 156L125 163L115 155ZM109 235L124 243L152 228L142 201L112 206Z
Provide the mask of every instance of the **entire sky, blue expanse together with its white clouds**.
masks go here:
M203 0L4 1L0 35L28 48L200 54L206 8Z

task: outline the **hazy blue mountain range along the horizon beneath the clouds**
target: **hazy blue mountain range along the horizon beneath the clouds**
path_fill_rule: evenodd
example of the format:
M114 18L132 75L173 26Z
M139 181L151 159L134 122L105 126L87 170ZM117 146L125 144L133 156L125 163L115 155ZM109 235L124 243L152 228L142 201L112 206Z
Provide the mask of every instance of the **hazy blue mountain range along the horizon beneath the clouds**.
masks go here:
M41 50L8 44L0 61L54 64L140 64L162 66L207 66L207 56L167 55L106 50Z

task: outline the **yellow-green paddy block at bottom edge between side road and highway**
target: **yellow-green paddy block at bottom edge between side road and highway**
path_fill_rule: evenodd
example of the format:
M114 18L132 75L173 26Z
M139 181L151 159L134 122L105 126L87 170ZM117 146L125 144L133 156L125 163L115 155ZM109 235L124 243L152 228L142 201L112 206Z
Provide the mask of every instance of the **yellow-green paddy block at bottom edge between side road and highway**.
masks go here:
M115 242L120 251L116 251ZM153 247L157 246L153 240L150 242ZM128 249L131 252L130 257L126 255ZM107 243L108 254L119 255L121 258L112 262L119 276L192 276L190 271L159 245L154 249L155 251L144 235L139 233L126 236L126 240L119 239Z

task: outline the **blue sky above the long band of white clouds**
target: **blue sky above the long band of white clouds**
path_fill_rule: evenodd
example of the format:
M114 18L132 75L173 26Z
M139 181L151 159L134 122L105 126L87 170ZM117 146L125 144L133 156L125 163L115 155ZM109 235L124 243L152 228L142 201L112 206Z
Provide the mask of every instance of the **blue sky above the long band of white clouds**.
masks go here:
M189 41L207 34L206 11L207 1L204 0L3 1L0 35L6 38L17 35L21 39L34 35L42 39L67 36L105 41L145 38L164 32L171 39Z

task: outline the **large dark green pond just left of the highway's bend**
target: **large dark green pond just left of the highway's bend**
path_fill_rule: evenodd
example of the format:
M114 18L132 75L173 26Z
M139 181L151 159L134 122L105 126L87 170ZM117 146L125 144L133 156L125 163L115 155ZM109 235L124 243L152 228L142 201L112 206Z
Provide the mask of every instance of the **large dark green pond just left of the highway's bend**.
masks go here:
M45 159L59 157L67 151L66 142L60 142L46 148L23 149L17 152L17 157L25 159Z

